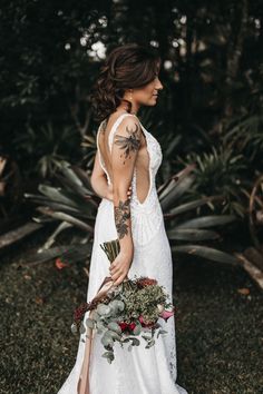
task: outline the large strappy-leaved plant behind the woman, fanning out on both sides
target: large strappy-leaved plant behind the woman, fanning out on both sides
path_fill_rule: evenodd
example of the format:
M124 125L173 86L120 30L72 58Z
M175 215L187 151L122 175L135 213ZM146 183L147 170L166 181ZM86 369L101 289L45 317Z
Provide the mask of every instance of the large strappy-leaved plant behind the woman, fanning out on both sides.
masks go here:
M191 174L193 168L194 166L185 168L158 187L164 218L168 221L169 239L172 243L174 240L183 242L181 246L173 245L173 249L177 253L192 253L221 263L236 264L236 259L226 253L212 247L192 244L192 242L199 243L218 239L220 236L217 233L211 230L211 228L235 219L234 216L230 215L195 217L192 220L188 218L191 214L196 211L196 208L201 208L212 200L218 199L218 197L206 197L179 205L179 201L184 200L186 190L195 180L194 175ZM61 259L72 263L76 259L81 259L81 256L85 256L85 260L88 258L87 248L90 250L90 246L87 247L87 245L91 244L92 240L95 215L99 198L94 194L89 176L82 169L70 166L68 162L62 162L61 173L61 175L57 176L61 187L40 185L39 191L41 195L26 194L27 198L30 198L38 205L37 210L42 214L42 217L35 218L35 220L45 221L49 217L52 220L59 221L56 230L39 250L41 254L30 257L31 260L43 262L45 259L48 260L60 256ZM185 218L187 219L185 220ZM70 245L51 248L56 242L56 237L72 226L79 228L82 235L77 240L75 237ZM78 249L77 256L72 253L72 248L74 250ZM86 255L81 253L82 248Z

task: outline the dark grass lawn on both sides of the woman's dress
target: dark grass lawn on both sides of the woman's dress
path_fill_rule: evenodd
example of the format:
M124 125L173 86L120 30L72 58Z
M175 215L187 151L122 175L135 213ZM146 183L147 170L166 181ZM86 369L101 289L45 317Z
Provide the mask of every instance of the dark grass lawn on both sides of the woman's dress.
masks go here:
M75 363L70 325L88 278L80 265L21 267L42 239L1 256L0 394L57 394ZM241 268L175 258L177 382L188 394L263 393L262 298Z

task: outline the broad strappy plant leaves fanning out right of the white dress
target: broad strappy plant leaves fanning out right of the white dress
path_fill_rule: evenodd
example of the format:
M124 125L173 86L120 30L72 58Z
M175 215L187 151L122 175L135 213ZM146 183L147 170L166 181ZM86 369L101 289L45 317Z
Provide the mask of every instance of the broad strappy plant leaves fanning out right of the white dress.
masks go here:
M215 201L222 203L223 197L217 195L189 199L187 191L194 187L196 181L194 169L194 165L186 167L158 188L172 250L236 265L237 260L232 255L199 244L210 240L218 242L221 236L213 228L232 223L236 217L234 215L201 215L202 207L207 208Z

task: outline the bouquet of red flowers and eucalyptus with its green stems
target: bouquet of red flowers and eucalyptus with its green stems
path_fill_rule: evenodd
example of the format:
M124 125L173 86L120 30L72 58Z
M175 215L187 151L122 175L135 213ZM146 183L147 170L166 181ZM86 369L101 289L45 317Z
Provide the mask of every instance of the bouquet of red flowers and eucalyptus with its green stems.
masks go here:
M100 244L110 263L119 253L118 239ZM106 357L109 364L114 361L114 344L121 347L127 343L128 351L139 346L140 339L146 348L155 344L159 335L167 332L158 323L174 315L175 307L171 304L165 288L156 279L148 277L126 278L120 285L114 286L111 277L106 277L96 295L89 303L82 303L74 314L72 333L86 332L82 317L89 311L86 325L89 339L92 331L101 336ZM82 339L84 341L84 339ZM85 341L84 341L85 342Z

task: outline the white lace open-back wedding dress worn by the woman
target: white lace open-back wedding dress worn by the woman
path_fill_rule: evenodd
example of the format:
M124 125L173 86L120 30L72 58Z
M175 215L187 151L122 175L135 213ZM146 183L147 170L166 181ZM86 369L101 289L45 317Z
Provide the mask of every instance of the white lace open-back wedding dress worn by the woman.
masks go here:
M130 114L125 112L120 115L110 130L108 138L110 150L114 134L125 116L130 116ZM107 175L108 183L110 183L98 147L98 135L101 125L97 134L97 148L100 165ZM135 170L130 198L134 259L128 277L134 278L136 275L137 277L147 276L157 279L160 285L165 286L171 301L173 301L172 254L155 184L155 176L162 162L163 155L156 138L142 124L140 126L146 137L149 154L150 187L144 203L139 203L135 187ZM109 276L109 262L99 244L116 239L117 237L114 204L103 198L98 207L95 224L87 302L90 302L95 297L105 276ZM176 383L177 365L174 316L167 323L160 318L159 323L168 333L160 335L150 348L145 348L145 341L143 338L140 339L142 345L134 346L132 352L128 352L126 346L121 348L119 343L115 342L115 359L111 364L101 357L105 349L100 343L100 336L95 335L89 368L90 394L187 394L186 390ZM58 394L77 394L77 383L85 353L82 338L86 339L85 334L80 335L79 338L75 366Z

